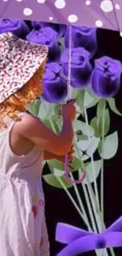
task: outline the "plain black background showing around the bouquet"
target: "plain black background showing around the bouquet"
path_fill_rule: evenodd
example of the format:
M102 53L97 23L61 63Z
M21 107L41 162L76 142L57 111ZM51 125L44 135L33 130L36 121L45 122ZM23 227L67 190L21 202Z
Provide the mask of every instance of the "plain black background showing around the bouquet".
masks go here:
M98 51L95 58L100 58L103 55L122 61L122 38L120 37L120 33L98 29ZM116 106L122 112L122 85L119 93L116 95ZM94 114L94 109L88 111L90 120ZM122 214L122 117L117 116L112 111L110 111L110 117L110 132L118 131L119 149L113 159L105 161L104 207L106 227L109 227ZM44 168L43 172L48 173L48 170ZM79 187L81 191L81 185ZM72 224L79 228L86 227L63 189L50 187L44 181L43 188L46 197L46 223L50 236L50 256L55 256L64 247L55 241L54 236L57 222ZM73 194L73 188L70 189L70 192ZM122 255L122 248L114 249L114 251L116 256ZM96 254L92 251L82 255L94 256Z

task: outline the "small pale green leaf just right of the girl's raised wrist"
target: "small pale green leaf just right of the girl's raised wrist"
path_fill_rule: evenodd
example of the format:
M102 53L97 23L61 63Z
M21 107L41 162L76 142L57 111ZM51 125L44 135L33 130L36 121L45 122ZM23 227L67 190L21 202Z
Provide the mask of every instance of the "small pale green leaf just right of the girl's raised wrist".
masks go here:
M75 132L77 131L83 132L83 135L87 135L87 136L94 135L94 129L83 121L79 121L79 120L74 121L73 128Z

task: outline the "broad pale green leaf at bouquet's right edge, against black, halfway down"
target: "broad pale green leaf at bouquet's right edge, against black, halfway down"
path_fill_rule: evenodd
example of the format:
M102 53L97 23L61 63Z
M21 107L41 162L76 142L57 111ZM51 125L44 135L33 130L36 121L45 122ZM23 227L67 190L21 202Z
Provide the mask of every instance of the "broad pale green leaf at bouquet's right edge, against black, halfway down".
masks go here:
M103 159L113 158L118 149L118 133L113 132L104 138L103 147L102 141L98 145L98 152L102 158L102 148L103 148Z

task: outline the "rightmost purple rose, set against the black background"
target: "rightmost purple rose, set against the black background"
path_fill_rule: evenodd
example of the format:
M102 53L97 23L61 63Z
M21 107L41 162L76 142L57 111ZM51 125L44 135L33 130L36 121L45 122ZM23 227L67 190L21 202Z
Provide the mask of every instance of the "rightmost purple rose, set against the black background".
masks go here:
M95 61L94 72L91 76L91 88L95 95L102 98L113 97L120 88L122 65L109 57Z

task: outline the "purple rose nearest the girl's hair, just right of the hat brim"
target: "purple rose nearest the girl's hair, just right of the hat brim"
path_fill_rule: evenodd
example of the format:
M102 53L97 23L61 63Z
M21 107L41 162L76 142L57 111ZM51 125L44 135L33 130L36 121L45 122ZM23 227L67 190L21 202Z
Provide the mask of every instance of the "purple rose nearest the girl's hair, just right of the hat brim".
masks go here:
M43 76L43 95L47 102L57 103L64 101L67 96L67 82L61 65L56 62L46 64Z

